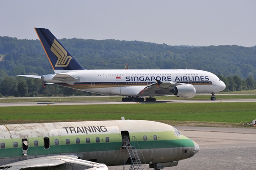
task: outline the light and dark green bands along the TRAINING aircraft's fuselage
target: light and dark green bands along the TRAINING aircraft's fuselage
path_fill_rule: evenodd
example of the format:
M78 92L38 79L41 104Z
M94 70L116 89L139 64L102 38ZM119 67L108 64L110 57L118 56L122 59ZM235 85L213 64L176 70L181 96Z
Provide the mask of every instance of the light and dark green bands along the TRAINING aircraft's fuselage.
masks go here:
M147 140L143 140L143 136L147 136ZM157 140L153 136L157 136ZM140 149L159 149L159 148L180 148L180 147L194 147L194 142L185 136L176 137L173 132L140 132L130 133L130 140L132 136L136 136ZM90 143L86 143L85 139L89 137ZM99 137L100 142L96 143L95 138ZM105 141L109 137L110 142ZM76 138L80 139L80 144L76 144ZM55 145L54 140L58 139L59 144ZM66 139L70 139L70 144L66 144ZM34 140L39 141L39 146L34 146ZM121 134L93 134L93 135L70 135L70 136L49 136L50 148L44 149L44 138L33 137L28 138L29 147L27 155L47 155L58 153L81 153L81 152L97 152L97 151L115 151L122 147ZM18 142L18 148L13 148L13 141ZM22 156L22 139L5 139L5 148L0 149L0 157L17 157ZM137 142L135 145L137 145ZM132 144L132 141L131 141ZM137 148L138 149L138 148Z

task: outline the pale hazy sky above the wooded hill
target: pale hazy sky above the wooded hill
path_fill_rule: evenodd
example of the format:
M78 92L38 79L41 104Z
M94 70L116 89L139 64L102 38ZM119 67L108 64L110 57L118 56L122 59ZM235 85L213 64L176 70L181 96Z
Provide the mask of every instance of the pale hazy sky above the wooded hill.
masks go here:
M0 36L256 45L256 0L0 0Z

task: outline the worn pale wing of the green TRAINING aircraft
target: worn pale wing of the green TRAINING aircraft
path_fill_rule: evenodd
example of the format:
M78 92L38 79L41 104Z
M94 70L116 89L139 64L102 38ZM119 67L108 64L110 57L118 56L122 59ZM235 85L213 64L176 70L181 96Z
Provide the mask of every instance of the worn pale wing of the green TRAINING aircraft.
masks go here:
M38 157L2 165L1 168L4 167L8 170L26 170L33 168L36 170L51 166L57 169L66 169L66 166L70 166L73 169L75 168L83 170L108 170L105 164L81 160L74 155ZM71 169L70 167L68 169Z

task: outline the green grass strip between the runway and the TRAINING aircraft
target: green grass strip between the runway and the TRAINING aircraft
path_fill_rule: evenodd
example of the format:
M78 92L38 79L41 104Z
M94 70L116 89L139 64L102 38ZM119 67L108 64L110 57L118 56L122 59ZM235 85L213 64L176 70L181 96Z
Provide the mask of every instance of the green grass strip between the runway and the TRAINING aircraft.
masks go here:
M143 119L171 125L243 127L256 119L254 102L147 103L0 107L0 124Z

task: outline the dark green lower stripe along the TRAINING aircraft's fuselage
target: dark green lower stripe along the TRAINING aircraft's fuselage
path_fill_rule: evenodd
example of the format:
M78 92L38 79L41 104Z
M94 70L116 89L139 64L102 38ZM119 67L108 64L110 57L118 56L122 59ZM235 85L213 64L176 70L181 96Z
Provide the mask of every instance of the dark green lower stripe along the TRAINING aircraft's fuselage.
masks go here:
M159 149L159 148L180 148L194 147L190 139L181 140L155 140L155 141L138 141L140 149ZM52 145L49 149L43 146L29 147L28 155L47 155L57 153L80 153L80 152L97 152L119 150L122 146L120 142L97 143L97 144L67 144ZM138 148L137 148L138 149ZM17 157L22 156L21 148L0 149L0 157Z

